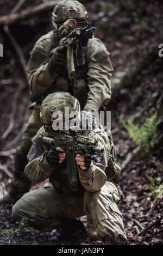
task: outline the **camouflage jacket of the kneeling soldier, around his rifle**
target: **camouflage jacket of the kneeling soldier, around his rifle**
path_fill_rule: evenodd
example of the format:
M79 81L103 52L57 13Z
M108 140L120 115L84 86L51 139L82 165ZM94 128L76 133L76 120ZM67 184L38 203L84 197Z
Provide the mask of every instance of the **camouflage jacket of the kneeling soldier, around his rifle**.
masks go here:
M110 143L106 133L101 129L96 129L92 131L85 131L84 134L98 139L98 146L102 146L104 148L105 162L108 163ZM48 133L45 132L44 127L42 126L37 132L37 135L32 139L33 145L27 155L29 162L24 173L31 181L39 183L50 178L52 185L64 194L69 194L71 192L78 194L84 190L95 192L105 184L107 180L105 174L106 167L100 163L95 165L92 162L87 172L78 168L78 183L71 186L68 179L66 162L64 161L65 163L62 163L61 167L51 167L51 165L46 161L42 142L43 136L48 136Z

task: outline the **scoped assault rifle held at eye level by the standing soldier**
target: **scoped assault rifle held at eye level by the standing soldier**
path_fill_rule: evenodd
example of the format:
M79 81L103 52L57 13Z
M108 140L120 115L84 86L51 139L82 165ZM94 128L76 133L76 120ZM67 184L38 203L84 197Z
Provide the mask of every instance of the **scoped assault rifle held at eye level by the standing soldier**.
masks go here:
M76 47L76 58L77 64L83 65L83 48L86 46L87 41L92 38L93 34L96 31L95 27L90 26L91 23L87 22L86 26L83 28L72 28L76 27L77 22L74 19L68 19L65 23L58 29L61 36L64 36L59 42L60 47L67 48L67 69L68 69L68 78L73 78L74 76L74 60L73 60L73 48Z

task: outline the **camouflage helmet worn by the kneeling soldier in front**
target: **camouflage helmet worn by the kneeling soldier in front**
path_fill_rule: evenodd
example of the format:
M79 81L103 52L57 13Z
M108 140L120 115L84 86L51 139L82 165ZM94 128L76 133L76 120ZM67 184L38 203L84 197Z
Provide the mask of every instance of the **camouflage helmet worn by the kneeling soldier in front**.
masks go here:
M66 108L68 115L65 114L65 107L68 107ZM56 92L47 95L40 108L40 119L43 125L52 127L53 121L60 118L60 113L62 114L63 123L73 118L80 121L80 103L76 97L67 92Z

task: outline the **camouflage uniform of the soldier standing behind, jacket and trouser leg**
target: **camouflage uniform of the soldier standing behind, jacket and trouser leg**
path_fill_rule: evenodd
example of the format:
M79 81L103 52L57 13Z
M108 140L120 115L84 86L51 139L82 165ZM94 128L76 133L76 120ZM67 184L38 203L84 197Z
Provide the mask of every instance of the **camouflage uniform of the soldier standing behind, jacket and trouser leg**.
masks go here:
M27 65L29 86L37 98L37 105L26 125L22 143L17 149L15 157L14 179L11 182L9 194L18 199L30 188L30 181L24 177L23 170L27 164L26 155L32 145L31 138L41 127L39 119L40 102L52 92L67 92L68 78L65 69L55 72L53 77L48 70L48 61L51 51L59 44L58 31L51 31L43 35L35 44ZM98 111L106 105L111 96L110 71L112 65L109 52L98 38L89 39L83 47L85 65L76 66L73 79L73 95L80 102L81 109Z

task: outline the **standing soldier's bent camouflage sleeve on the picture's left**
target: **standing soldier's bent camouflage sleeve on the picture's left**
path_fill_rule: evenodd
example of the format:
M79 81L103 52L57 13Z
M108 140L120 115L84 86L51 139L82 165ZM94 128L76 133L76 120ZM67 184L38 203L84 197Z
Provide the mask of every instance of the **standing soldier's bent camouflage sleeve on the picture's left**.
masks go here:
M48 71L48 60L51 56L51 33L42 36L35 44L27 65L30 90L36 95L43 94L53 83L55 76ZM57 76L57 74L56 74Z

